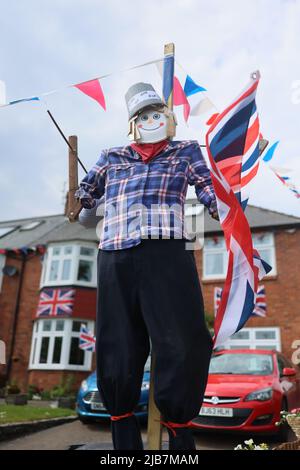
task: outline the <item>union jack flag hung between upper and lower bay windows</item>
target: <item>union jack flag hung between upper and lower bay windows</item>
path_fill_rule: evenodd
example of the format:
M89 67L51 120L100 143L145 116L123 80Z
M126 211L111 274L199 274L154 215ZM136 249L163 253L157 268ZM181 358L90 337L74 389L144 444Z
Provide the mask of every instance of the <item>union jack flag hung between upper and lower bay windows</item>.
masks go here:
M75 289L44 289L40 293L37 317L72 315Z

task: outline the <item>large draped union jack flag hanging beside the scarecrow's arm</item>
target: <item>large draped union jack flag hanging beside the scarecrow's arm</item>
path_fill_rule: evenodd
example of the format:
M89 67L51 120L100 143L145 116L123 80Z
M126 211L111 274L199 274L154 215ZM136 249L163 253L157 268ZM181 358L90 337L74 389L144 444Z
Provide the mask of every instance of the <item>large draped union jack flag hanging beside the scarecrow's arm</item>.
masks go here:
M259 73L216 116L206 134L211 178L228 251L228 269L215 318L214 347L239 331L253 314L258 280L271 270L253 248L244 214L248 185L259 165L259 119L255 103Z

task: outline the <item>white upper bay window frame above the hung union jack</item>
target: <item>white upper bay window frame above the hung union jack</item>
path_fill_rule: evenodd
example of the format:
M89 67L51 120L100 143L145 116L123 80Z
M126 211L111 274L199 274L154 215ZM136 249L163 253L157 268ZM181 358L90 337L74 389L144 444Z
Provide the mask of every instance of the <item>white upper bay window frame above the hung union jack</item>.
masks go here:
M64 250L65 247L72 247L72 253L62 255L54 254L55 248L60 248L61 252ZM80 254L80 248L92 248L94 250L93 256L86 256ZM97 287L97 254L98 248L95 243L93 242L62 242L62 243L51 243L47 247L47 251L44 255L43 260L43 269L40 281L40 288L42 287L51 287L51 286L59 286L59 285L77 285L77 286L86 286L86 287ZM52 261L57 260L59 262L58 268L58 278L55 280L50 280L50 270ZM62 270L63 270L63 261L70 260L71 261L71 269L70 269L70 277L69 279L62 279ZM81 260L88 260L92 261L92 279L91 281L83 281L78 280L78 269L79 263Z

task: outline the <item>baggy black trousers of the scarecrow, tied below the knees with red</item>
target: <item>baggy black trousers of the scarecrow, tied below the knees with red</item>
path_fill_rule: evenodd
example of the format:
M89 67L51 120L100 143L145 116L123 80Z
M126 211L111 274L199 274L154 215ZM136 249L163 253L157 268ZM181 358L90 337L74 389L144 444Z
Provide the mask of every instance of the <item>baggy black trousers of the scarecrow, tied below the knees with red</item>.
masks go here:
M150 343L154 399L163 418L185 423L202 405L212 338L194 252L184 239L143 239L98 253L98 389L111 415L134 411Z

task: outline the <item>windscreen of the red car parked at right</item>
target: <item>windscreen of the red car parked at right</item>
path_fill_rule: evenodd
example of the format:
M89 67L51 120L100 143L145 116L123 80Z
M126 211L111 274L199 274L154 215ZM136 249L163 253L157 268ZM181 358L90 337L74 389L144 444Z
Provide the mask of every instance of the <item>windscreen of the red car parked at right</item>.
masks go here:
M270 375L272 372L272 356L267 354L216 354L209 367L210 374Z

